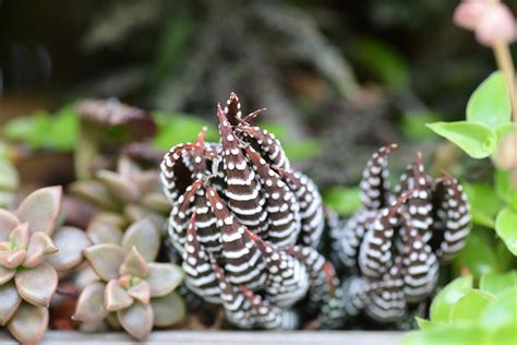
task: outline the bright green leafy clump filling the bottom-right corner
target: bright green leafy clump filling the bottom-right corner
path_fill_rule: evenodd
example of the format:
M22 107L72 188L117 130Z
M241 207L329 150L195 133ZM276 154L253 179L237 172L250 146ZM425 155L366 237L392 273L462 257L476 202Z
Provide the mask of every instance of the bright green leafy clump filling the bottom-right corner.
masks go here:
M515 344L516 307L516 271L483 274L479 288L472 276L458 277L433 299L430 320L417 320L422 332L402 344Z

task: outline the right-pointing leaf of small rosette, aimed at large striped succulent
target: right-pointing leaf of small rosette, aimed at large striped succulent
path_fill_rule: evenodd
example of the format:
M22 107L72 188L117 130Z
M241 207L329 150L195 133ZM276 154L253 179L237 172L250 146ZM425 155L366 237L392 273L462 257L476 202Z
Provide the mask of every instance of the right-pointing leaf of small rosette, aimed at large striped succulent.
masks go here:
M145 278L151 286L151 297L165 296L183 281L183 270L170 263L148 263L149 273Z

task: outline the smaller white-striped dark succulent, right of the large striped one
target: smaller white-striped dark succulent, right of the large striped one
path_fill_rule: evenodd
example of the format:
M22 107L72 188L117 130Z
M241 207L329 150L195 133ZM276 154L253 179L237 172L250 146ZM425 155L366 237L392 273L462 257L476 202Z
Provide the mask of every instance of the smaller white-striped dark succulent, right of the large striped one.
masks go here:
M395 147L373 154L360 183L362 206L332 233L353 275L344 283L348 314L381 323L402 322L435 292L440 264L466 245L471 227L461 186L446 172L431 178L420 154L390 191L387 156Z

